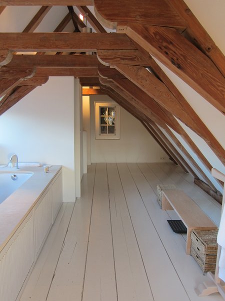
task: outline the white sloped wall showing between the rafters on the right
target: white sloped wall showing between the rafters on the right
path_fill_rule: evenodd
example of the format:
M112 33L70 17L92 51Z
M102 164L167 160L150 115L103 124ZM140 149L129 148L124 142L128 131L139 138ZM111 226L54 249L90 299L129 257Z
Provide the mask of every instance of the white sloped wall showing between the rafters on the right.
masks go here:
M220 50L225 55L225 39L224 36L224 28L225 28L225 2L224 1L216 1L213 3L211 1L193 1L193 0L185 0L185 3L194 13L195 17L197 17L198 21L202 24L202 26L207 30L211 38L214 40L216 45L220 48ZM210 12L210 14L209 14ZM190 86L188 86L183 80L181 80L178 76L176 76L173 72L171 72L167 67L165 67L162 63L155 59L157 64L161 67L161 69L165 72L165 74L170 78L173 84L178 88L181 94L185 97L187 102L191 105L200 119L204 122L207 128L211 131L217 141L225 148L225 117L219 112L214 106L208 103L201 95L199 95L196 91L194 91ZM225 173L225 167L221 163L221 161L215 156L209 146L205 143L205 141L199 137L196 133L194 133L191 129L189 129L185 124L178 120L183 129L187 132L190 138L194 141L196 146L199 148L202 155L207 159L207 161L211 164L213 168L218 169L222 173ZM163 129L161 129L163 131ZM172 130L172 129L171 129ZM166 132L163 131L166 135ZM181 144L187 149L188 153L197 163L197 165L203 170L203 172L207 175L210 181L214 184L218 191L223 192L222 187L218 185L218 183L213 179L210 175L209 171L202 165L202 163L198 160L197 156L192 152L192 150L188 147L182 137L177 134L175 131L173 133L176 135ZM169 136L167 136L170 139ZM172 140L170 139L172 142ZM174 144L174 143L173 143ZM174 146L176 146L174 144ZM184 156L184 155L183 155ZM185 158L185 157L184 157ZM188 159L185 158L188 162ZM189 162L189 164L191 164ZM192 167L193 170L194 167ZM195 170L197 173L197 171ZM198 174L198 173L197 173ZM201 180L202 177L198 174Z

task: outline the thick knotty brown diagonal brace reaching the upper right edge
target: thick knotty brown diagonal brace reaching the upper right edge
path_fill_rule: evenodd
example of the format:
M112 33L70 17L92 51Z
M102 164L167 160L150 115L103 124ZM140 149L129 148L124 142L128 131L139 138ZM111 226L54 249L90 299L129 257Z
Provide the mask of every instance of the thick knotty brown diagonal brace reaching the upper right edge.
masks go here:
M134 23L125 33L225 114L225 78L188 40L171 28Z

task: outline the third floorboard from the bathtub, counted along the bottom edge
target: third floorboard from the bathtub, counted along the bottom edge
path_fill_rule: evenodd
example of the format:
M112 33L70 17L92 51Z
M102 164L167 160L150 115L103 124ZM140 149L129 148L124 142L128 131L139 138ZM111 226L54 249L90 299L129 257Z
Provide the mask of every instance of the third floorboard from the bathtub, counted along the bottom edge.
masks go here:
M115 301L114 257L106 164L96 165L90 235L82 301Z

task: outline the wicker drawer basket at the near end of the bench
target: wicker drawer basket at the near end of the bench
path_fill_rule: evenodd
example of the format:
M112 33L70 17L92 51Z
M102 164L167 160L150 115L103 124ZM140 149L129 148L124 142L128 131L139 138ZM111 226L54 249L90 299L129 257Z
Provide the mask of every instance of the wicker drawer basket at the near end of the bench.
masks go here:
M217 256L216 237L218 230L192 230L190 233L190 255L196 260L204 272L214 272Z

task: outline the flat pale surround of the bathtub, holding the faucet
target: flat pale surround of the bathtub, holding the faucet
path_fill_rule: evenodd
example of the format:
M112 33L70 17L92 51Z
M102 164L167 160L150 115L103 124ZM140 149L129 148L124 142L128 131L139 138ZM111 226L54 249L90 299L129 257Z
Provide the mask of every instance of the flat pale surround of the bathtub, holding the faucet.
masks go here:
M0 204L0 251L36 204L49 182L60 171L53 165L47 173L43 167L0 168L0 172L32 172L33 175Z

